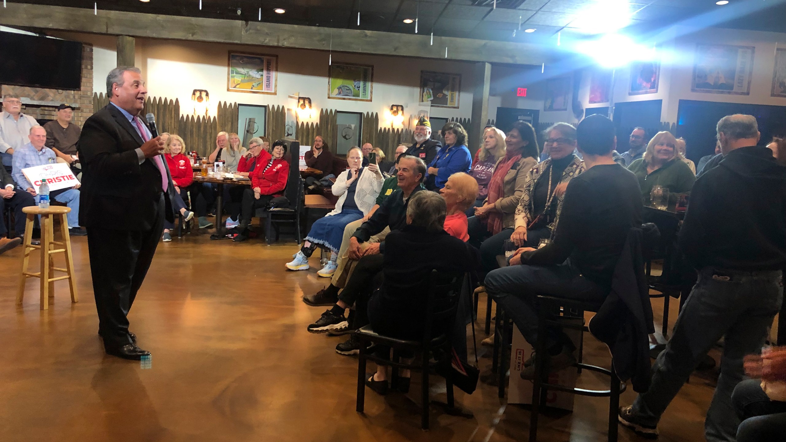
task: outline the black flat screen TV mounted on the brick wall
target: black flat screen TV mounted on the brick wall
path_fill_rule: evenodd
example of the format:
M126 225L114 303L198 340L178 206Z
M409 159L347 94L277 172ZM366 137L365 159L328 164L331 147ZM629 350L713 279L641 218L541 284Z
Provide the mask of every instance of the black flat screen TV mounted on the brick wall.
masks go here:
M0 32L0 84L79 90L82 43Z

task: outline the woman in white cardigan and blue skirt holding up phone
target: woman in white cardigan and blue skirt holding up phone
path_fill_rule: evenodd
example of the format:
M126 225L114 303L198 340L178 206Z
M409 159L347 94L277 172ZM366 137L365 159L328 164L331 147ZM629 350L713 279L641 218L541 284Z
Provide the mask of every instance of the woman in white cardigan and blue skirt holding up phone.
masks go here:
M295 259L288 262L289 270L307 270L308 258L318 245L330 249L330 261L318 274L332 276L336 271L336 260L341 247L344 227L352 221L361 219L371 210L376 197L382 188L384 177L376 164L361 166L363 154L360 149L353 148L347 152L347 171L341 173L332 186L333 195L340 196L336 208L318 219L311 225L311 230L303 242L303 248L297 252Z

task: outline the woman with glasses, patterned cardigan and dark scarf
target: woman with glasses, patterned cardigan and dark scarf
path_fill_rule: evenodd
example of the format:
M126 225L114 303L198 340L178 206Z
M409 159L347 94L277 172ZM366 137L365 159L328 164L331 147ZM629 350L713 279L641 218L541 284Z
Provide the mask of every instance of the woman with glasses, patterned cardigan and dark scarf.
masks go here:
M567 184L585 171L584 162L573 154L576 149L575 127L556 123L546 134L549 137L545 142L549 158L532 168L516 207L516 228L510 235L516 247L536 248L542 239L552 237ZM486 259L489 260L488 265L494 266L491 268L496 268L496 261L490 262L491 256Z

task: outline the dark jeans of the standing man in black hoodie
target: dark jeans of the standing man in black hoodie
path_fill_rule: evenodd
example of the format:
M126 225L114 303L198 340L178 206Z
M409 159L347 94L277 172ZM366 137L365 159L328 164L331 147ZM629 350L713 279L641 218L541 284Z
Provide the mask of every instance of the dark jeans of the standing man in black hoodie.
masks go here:
M732 407L734 387L744 379L743 358L762 351L780 310L780 271L729 271L704 267L685 300L666 350L652 366L652 385L634 401L633 412L656 425L700 360L725 336L721 374L704 436L709 442L734 440L740 419Z

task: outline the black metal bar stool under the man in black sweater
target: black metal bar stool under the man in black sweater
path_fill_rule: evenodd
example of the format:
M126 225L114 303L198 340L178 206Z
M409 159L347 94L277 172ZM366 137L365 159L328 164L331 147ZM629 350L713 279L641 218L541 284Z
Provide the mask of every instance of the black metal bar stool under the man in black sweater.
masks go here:
M540 407L542 404L545 404L546 392L549 389L558 390L561 392L569 392L580 396L594 396L594 397L608 397L608 441L609 442L616 442L617 440L617 412L619 408L619 395L620 393L624 392L626 389L626 385L622 384L617 378L617 374L615 374L614 370L607 370L600 366L593 366L588 365L585 363L575 363L575 367L578 369L586 369L597 371L598 373L608 374L611 378L609 382L609 389L608 390L588 390L588 389L578 389L578 388L571 388L566 387L564 385L554 385L549 384L547 379L549 374L545 373L544 366L543 366L543 358L540 355L544 355L546 352L545 349L545 333L546 328L548 326L557 326L560 328L569 328L573 330L582 330L583 332L589 331L587 327L584 325L578 324L571 324L567 322L560 321L561 319L573 319L573 318L580 318L584 319L584 312L585 311L595 311L597 312L599 308L601 308L601 304L593 304L587 303L577 300L568 300L559 297L549 297L549 296L538 296L538 342L535 344L535 376L532 386L532 407L531 407L531 415L530 415L530 442L534 442L538 440L538 413L540 411ZM556 319L553 317L552 313L555 311L560 311L562 309L563 315L556 316ZM571 314L571 311L575 312L575 314ZM578 348L578 351L581 352L583 349L583 345ZM579 356L579 361L581 361L581 356ZM614 366L614 360L612 359L612 368Z

